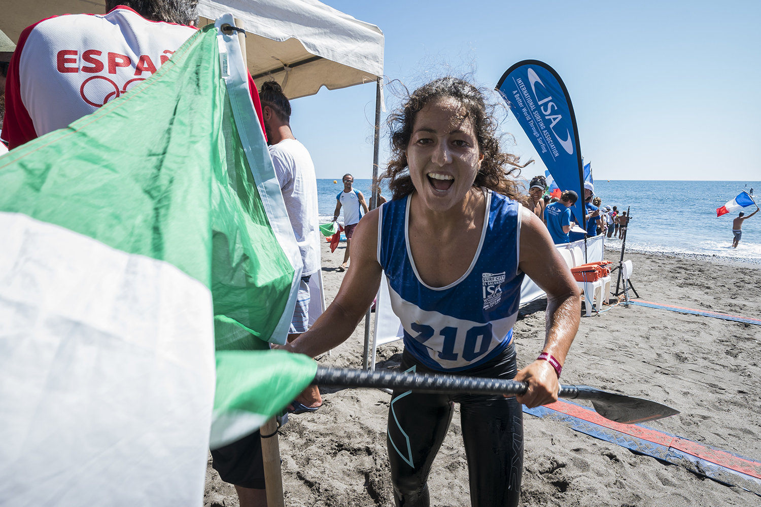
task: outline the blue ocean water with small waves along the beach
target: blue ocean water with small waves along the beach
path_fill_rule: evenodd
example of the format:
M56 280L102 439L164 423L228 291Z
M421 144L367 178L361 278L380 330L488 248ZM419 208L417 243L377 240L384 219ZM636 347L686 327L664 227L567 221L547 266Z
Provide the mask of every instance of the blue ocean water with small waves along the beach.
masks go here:
M333 218L336 195L343 185L337 179L318 179L320 223ZM356 179L358 189L370 201L371 179ZM603 205L616 205L619 211L631 208L632 221L626 236L626 249L677 255L712 255L761 263L761 212L743 223L743 239L737 249L732 245L732 218L737 211L716 217L716 208L740 191L754 189L761 203L761 182L677 182L623 181L597 179L596 195ZM384 191L386 198L390 194ZM745 208L750 214L755 208ZM339 219L341 220L341 219ZM617 246L619 239L606 239Z

